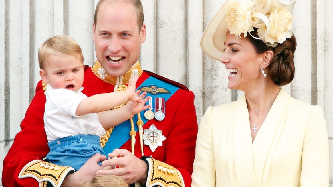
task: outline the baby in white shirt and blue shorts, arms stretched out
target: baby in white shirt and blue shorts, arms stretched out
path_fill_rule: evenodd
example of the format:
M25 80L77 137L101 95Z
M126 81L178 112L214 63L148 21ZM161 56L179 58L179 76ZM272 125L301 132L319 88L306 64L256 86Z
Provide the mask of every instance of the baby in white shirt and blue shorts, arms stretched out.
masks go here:
M87 97L83 90L84 58L74 39L58 35L46 40L38 51L39 74L46 83L45 132L49 162L79 170L86 161L105 155L100 136L106 128L128 120L149 105L147 93L135 92L138 77L124 91ZM117 110L109 110L128 103Z

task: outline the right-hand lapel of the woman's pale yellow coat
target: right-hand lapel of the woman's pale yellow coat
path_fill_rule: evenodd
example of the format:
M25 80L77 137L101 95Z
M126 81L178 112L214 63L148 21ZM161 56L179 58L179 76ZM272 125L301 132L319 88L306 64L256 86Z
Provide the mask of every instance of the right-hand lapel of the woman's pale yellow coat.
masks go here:
M256 135L253 148L253 165L258 186L266 186L274 150L280 138L291 97L281 89L266 119Z

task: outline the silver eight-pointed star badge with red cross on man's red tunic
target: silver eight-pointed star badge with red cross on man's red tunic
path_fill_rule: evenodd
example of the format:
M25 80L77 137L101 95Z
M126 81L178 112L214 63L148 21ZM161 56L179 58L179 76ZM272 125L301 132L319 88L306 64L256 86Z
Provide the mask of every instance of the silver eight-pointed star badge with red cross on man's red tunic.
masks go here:
M162 134L162 130L157 129L156 126L152 124L148 129L145 129L143 139L145 145L148 145L154 152L157 146L162 146L162 141L164 141L166 137Z

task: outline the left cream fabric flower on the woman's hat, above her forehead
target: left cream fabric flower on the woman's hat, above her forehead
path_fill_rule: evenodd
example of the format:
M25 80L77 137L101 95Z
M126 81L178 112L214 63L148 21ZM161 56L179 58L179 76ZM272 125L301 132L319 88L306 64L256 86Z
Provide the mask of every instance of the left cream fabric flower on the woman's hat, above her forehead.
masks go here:
M230 34L240 37L243 33L244 37L248 32L253 31L253 26L250 22L250 10L254 6L251 0L232 0L228 5L227 28Z

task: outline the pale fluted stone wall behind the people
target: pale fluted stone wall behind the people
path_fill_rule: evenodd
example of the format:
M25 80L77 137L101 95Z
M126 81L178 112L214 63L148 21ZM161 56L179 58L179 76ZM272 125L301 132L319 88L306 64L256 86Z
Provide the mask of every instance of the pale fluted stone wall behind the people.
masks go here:
M224 0L142 2L147 25L147 40L140 57L142 66L187 85L195 93L198 121L209 105L227 103L242 94L227 88L224 65L203 55L199 47L203 29ZM96 59L92 41L96 4L97 0L0 0L1 169L40 79L39 46L53 35L68 34L82 47L85 63L92 65ZM332 7L331 0L298 0L296 3L293 12L296 75L294 81L284 87L293 97L324 108L331 151Z

